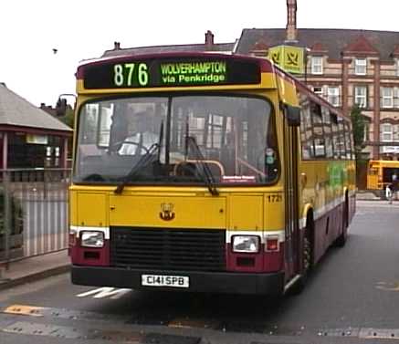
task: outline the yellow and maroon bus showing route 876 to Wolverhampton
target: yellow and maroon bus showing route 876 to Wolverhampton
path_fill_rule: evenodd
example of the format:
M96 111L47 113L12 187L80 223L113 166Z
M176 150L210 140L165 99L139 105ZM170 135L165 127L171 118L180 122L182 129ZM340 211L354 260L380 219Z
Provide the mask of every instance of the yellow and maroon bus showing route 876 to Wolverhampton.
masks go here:
M268 59L131 55L76 75L73 284L280 296L345 244L351 122Z

